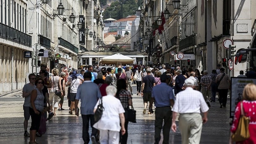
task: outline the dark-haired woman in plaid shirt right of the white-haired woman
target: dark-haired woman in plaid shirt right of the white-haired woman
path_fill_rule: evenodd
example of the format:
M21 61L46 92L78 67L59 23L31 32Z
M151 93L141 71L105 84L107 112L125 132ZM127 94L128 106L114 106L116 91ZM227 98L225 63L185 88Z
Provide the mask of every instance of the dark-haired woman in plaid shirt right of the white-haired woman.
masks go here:
M121 135L120 131L120 140L121 144L126 144L127 143L127 138L128 138L128 115L127 115L127 110L129 109L129 105L132 106L132 97L131 93L129 93L126 90L126 81L124 79L119 79L117 81L117 93L116 97L120 99L121 104L123 105L123 108L125 109L125 134Z

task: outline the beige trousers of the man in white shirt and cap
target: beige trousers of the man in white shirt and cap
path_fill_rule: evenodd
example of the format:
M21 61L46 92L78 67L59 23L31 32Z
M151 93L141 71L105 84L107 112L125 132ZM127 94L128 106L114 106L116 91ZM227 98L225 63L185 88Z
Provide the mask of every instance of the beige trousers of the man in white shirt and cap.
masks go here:
M203 120L199 113L180 114L179 128L182 144L199 144Z

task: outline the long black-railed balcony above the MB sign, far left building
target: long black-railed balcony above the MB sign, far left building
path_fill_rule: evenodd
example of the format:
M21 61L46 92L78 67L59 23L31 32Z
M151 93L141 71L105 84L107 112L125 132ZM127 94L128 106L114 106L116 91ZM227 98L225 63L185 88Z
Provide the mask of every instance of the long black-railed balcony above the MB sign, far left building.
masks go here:
M32 45L32 36L22 33L21 31L9 27L3 23L0 23L0 38L7 39L28 47L31 47Z

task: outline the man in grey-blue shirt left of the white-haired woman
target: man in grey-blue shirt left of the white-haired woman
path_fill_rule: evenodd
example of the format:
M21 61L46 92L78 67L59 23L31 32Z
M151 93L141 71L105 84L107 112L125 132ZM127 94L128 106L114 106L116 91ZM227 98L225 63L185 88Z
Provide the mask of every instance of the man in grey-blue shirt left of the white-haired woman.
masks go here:
M93 144L96 144L96 135L98 130L93 127L94 121L94 106L96 105L98 99L101 97L101 92L97 84L91 81L92 75L91 72L86 72L83 75L84 82L77 88L76 99L75 99L75 111L76 115L79 115L77 105L81 99L81 115L83 121L82 127L82 138L85 144L88 144L90 141L89 137L89 121L91 122L92 134L91 140Z

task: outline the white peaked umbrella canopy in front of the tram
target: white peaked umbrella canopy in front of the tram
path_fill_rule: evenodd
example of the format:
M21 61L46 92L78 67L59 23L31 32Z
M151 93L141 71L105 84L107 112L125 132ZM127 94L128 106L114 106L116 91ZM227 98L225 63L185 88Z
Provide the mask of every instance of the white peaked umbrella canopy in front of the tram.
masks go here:
M123 64L131 64L134 62L134 59L120 53L116 53L114 55L103 57L100 59L100 63L102 64L117 64L118 62L121 62Z

